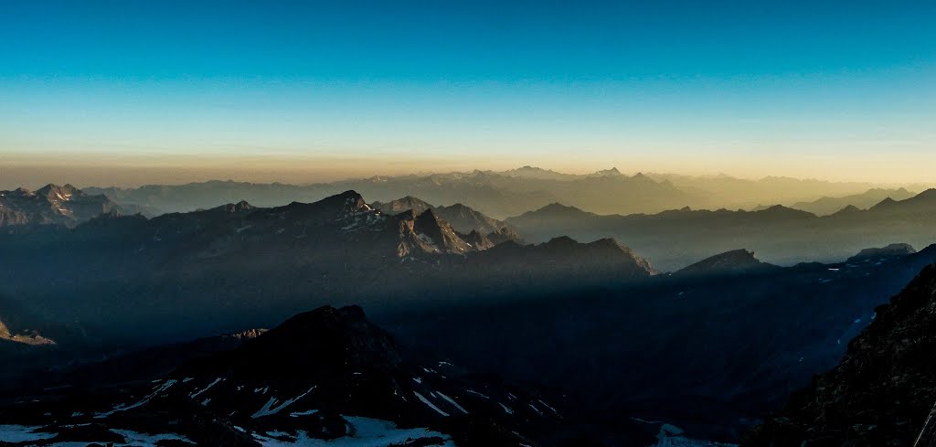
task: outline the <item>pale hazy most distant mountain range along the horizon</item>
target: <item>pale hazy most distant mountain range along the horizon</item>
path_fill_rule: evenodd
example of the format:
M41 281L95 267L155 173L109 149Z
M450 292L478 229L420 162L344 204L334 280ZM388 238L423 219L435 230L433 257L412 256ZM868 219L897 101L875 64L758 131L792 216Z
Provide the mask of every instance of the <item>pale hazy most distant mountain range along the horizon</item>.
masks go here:
M907 187L915 188L916 191L926 189L923 185ZM592 174L564 174L523 166L506 171L378 176L307 185L212 180L183 185L84 189L89 194L108 195L123 205L137 206L149 216L161 212L207 209L241 199L260 207L277 207L295 200L314 202L329 195L355 190L381 202L409 195L437 206L461 203L503 220L553 202L599 214L655 213L686 206L695 209L752 209L765 203L792 205L811 202L824 195L870 196L876 194L874 188L879 186L871 183L786 178L742 180L728 176L625 175L617 168ZM896 190L894 198L902 198L899 194L899 190ZM862 196L846 200L852 201L855 203L846 205L866 208L867 199ZM804 207L808 208L806 205Z

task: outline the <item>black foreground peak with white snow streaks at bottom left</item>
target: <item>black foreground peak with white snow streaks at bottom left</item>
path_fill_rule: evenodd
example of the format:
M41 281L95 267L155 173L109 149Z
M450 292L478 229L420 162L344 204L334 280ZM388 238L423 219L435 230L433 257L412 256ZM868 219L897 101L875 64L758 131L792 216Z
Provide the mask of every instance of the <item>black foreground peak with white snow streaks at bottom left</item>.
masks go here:
M534 446L556 433L557 406L530 387L415 362L360 308L325 307L152 382L38 396L0 406L0 417L25 425L25 441L41 426L53 440L134 443L146 433L157 445L206 447Z

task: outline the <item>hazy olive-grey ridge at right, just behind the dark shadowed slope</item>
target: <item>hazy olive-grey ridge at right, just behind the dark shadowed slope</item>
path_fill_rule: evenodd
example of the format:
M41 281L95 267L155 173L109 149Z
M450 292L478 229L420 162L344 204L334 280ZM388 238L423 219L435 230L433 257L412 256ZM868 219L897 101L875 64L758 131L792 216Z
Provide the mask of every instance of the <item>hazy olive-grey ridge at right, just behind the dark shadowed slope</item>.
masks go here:
M661 270L675 271L726 247L743 246L768 263L792 265L841 261L868 245L895 239L925 246L936 238L928 217L934 212L936 194L928 190L905 200L885 199L867 210L842 209L822 217L779 205L757 211L686 207L622 216L552 204L505 222L531 241L616 238Z

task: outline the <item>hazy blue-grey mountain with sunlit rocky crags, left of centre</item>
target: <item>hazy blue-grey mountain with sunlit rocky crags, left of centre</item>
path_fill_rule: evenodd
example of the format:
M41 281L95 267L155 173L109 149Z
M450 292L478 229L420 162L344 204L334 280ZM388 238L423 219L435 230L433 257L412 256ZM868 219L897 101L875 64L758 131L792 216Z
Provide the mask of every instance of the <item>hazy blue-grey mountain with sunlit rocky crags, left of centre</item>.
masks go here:
M388 308L397 304L386 296L454 300L477 290L612 285L653 273L615 241L520 245L513 238L461 234L435 209L387 215L348 191L271 209L241 201L0 236L0 261L8 266L0 280L56 321L165 341L270 324L325 302ZM46 275L48 266L67 267ZM439 292L444 298L433 298ZM75 299L83 305L73 306ZM193 330L160 324L167 319ZM144 323L154 329L131 330Z

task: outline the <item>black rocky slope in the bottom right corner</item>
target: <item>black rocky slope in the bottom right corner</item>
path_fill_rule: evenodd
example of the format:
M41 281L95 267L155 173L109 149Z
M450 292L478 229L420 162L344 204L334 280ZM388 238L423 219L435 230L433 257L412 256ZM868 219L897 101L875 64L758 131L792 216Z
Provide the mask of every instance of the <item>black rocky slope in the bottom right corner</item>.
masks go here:
M742 445L914 444L936 403L936 267L875 309L841 363L790 397Z

